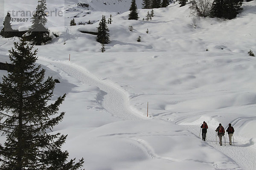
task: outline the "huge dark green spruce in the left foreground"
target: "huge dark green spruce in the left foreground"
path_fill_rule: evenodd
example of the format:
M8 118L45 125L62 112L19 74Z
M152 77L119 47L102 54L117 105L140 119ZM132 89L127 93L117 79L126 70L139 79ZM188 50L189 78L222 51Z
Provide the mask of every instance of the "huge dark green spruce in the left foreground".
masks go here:
M63 119L58 108L66 94L48 104L53 96L52 77L44 81L45 70L35 65L37 50L25 41L9 50L12 69L0 83L0 131L6 135L0 145L0 170L77 170L83 159L67 162L61 151L67 135L49 134Z

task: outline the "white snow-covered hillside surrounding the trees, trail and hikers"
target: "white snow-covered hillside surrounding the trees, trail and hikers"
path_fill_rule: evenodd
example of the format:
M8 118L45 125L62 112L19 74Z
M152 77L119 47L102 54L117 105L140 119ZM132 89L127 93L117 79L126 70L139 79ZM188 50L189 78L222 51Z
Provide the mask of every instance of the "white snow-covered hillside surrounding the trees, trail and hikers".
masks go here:
M141 8L142 0L136 2ZM256 58L247 54L256 54L255 0L244 2L233 20L197 17L178 3L154 9L151 21L143 20L148 9L138 9L139 20L128 20L131 0L47 3L64 16L48 18L59 37L35 46L37 63L61 80L52 100L67 93L60 108L64 120L53 133L68 134L63 149L70 158L84 157L88 170L256 169ZM34 8L13 8L19 6ZM101 53L96 36L81 31L96 31L102 15L110 14L111 42ZM73 18L93 24L69 26ZM14 41L0 37L0 62L9 62ZM226 146L218 144L219 123L233 125L235 145L228 139Z

